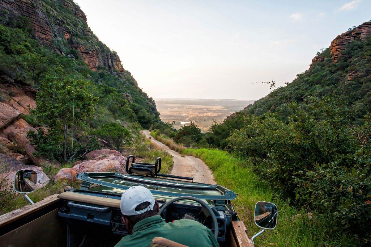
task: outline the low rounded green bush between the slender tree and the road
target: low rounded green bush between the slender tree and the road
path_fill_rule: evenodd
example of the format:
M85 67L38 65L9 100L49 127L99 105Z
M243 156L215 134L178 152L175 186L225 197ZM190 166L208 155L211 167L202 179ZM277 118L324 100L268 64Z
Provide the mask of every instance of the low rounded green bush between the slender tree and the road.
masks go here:
M120 152L122 146L129 143L132 138L130 131L118 123L104 124L98 130L93 131L92 134L104 140L106 148L114 148L114 150Z

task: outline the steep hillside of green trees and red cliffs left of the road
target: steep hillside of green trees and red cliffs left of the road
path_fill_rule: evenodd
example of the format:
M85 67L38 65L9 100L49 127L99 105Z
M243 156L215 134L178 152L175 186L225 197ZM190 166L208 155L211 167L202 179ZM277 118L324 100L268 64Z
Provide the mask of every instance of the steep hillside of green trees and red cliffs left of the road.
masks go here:
M1 30L3 83L37 87L46 73L58 68L97 85L94 94L106 108L101 115L108 111L109 118L138 121L143 127L160 121L154 100L139 89L115 51L93 34L85 14L73 1L0 0L0 13L0 24L9 28ZM7 48L7 40L14 43L12 49ZM17 50L16 46L23 48ZM109 99L114 101L111 106L107 106ZM117 113L116 108L125 110Z

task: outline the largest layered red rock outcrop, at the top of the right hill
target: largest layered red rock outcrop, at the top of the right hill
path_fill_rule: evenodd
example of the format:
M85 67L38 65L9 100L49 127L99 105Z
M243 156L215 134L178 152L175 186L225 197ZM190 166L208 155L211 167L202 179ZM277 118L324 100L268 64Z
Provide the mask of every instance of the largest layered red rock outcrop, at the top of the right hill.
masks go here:
M371 35L371 22L365 22L351 31L338 35L330 45L331 56L336 63L340 59L347 59L344 51L347 50L347 44L355 39L365 40Z

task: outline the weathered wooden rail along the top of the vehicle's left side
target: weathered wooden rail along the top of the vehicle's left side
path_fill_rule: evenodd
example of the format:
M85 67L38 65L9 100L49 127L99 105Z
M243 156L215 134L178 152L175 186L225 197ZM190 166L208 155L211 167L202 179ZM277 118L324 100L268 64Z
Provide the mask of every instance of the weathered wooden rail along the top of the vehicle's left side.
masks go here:
M59 201L59 198L57 198L58 194L54 194L52 196L46 197L41 201L38 201L35 204L30 204L21 208L18 208L16 210L13 210L9 213L3 214L0 216L0 227L4 226L6 224L9 224L15 220L18 220L24 216L27 216L40 208L44 208L46 206L49 206L50 204L55 203L56 201Z

